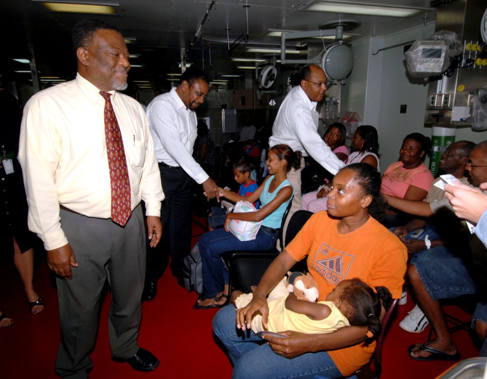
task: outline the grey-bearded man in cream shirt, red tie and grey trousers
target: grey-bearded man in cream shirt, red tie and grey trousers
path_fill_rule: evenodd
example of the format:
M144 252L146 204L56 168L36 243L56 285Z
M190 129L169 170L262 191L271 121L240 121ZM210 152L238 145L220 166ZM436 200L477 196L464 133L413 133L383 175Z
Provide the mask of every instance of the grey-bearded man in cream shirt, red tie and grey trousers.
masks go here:
M137 337L146 239L155 246L162 234L164 195L154 145L140 104L116 92L126 88L130 69L119 31L106 22L82 20L73 30L73 44L78 75L28 101L18 155L29 228L43 240L48 266L57 275L61 342L55 369L62 377L88 377L100 295L108 279L112 357L136 370L151 371L159 361L139 348ZM113 202L117 196L112 191L114 170L107 135L117 122L107 126L110 102L110 113L118 121L113 130L121 135L123 147L119 141L116 144L126 158L119 165L126 166L122 171L129 179L123 188L130 196L124 198L128 220L117 217ZM146 204L148 234L141 200Z

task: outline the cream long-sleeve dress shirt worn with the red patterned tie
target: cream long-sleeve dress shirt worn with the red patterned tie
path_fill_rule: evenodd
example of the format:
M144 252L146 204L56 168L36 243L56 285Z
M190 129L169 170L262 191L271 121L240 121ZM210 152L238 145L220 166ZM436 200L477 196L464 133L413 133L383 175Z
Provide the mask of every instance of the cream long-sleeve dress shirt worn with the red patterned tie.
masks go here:
M160 216L161 179L144 110L134 99L110 91L122 134L131 207L141 200L148 216ZM59 204L89 217L111 217L111 185L99 89L77 75L27 102L19 161L29 205L29 229L47 250L68 243Z

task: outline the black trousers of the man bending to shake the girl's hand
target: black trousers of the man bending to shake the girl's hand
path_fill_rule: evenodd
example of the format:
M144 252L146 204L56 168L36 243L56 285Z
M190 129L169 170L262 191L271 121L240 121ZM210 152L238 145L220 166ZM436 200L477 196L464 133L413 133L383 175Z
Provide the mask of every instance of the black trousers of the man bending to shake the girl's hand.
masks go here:
M146 281L162 276L169 255L173 276L182 277L183 259L191 249L191 200L194 180L180 167L159 164L162 191L162 241L148 248Z

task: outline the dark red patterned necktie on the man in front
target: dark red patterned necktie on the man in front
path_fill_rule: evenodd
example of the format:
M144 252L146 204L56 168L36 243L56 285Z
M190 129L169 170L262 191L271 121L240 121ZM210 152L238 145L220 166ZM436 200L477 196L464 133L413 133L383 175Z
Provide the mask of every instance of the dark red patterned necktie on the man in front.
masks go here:
M100 91L100 95L105 99L103 115L105 116L108 167L110 169L110 185L112 187L112 221L125 226L130 214L132 214L132 209L130 203L130 180L128 178L122 134L112 107L110 93Z

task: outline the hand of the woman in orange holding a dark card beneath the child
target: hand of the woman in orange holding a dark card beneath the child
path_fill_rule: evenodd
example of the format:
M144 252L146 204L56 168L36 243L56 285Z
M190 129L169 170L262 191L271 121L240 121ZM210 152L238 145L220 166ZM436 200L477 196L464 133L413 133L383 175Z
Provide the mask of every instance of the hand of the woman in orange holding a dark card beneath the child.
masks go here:
M268 334L263 336L263 339L269 343L270 348L275 354L281 357L294 358L298 355L313 351L313 334L293 332L290 330L280 333L289 336L289 338L280 338Z

